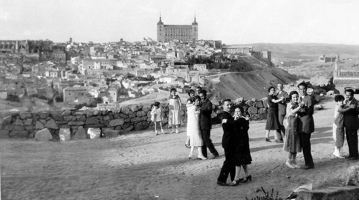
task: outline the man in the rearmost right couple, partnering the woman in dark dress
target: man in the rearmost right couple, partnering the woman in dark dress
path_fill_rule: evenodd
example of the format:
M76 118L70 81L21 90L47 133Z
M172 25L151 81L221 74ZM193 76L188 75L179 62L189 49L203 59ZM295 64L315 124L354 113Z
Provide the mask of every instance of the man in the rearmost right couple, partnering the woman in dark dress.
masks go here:
M280 140L276 142L283 142L283 137L285 136L285 128L283 126L284 117L286 115L287 102L290 101L289 95L287 92L283 90L283 83L277 84L277 97L280 99L284 97L285 100L278 102L278 120L280 124L280 129L278 130L278 135L280 136Z

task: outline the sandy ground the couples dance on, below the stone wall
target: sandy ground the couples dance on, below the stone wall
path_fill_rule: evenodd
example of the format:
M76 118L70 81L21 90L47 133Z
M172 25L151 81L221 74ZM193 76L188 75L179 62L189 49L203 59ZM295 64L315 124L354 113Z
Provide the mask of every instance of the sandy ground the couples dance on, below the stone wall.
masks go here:
M312 170L289 169L283 145L264 142L265 123L251 123L249 165L252 181L237 187L219 186L216 179L224 161L222 128L211 138L220 158L188 160L186 133L154 136L152 129L114 139L35 142L1 141L2 199L244 199L262 195L263 186L287 196L300 185L343 185L355 161L331 153L335 102L314 114ZM272 133L271 133L272 135ZM271 137L272 139L273 137ZM346 143L346 142L345 142ZM345 144L344 153L348 153ZM304 165L299 153L299 165ZM155 198L154 195L158 195Z

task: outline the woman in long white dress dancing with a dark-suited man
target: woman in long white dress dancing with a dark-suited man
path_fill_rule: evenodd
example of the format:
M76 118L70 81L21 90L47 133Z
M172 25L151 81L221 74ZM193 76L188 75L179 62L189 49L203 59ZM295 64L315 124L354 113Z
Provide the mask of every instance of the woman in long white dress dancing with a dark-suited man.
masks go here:
M206 160L207 158L203 156L202 154L202 145L203 140L201 136L200 131L200 125L199 125L199 115L200 111L198 108L198 105L201 101L201 98L199 96L196 97L195 105L188 107L187 112L187 135L190 136L190 145L191 145L191 152L188 156L188 159L193 159L193 151L195 147L198 148L198 158L202 160Z

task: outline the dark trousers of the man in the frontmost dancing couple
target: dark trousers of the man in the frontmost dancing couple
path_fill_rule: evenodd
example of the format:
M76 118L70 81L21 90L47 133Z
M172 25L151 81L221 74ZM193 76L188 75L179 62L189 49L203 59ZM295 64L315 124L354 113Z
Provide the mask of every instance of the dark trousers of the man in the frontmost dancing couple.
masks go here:
M223 166L217 181L219 182L227 182L228 174L230 175L230 180L233 181L236 176L236 166L234 165L234 149L233 148L225 148L224 156L225 160L223 162Z

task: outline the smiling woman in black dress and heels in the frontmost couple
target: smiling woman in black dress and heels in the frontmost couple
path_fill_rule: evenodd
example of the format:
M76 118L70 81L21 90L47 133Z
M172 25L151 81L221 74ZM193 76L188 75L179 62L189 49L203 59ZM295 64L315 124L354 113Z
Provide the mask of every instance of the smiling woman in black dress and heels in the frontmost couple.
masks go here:
M234 109L234 165L236 165L236 176L229 186L236 186L239 182L247 182L252 180L252 176L248 172L247 165L252 163L251 151L249 148L249 118L244 117L244 109L242 106L236 106ZM245 174L244 179L239 178L241 167Z

